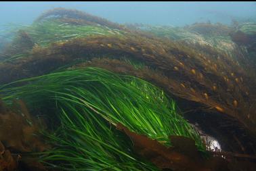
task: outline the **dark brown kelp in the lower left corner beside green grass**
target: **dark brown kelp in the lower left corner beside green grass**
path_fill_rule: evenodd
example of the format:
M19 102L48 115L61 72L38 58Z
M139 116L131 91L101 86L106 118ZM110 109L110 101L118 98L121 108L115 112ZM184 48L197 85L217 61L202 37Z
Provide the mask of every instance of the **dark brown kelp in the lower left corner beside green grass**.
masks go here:
M26 156L44 151L49 145L38 136L43 123L30 116L25 103L18 100L7 106L0 99L0 125L0 170L43 171L42 164Z

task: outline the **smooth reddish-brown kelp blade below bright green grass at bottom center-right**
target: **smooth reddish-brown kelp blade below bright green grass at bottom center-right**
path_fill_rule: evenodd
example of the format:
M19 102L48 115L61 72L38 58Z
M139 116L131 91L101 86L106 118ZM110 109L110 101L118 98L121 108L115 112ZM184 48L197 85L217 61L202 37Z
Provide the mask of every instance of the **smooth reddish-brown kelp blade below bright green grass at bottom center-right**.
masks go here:
M196 153L197 150L193 141L186 137L172 136L171 141L173 141L173 147L165 147L165 145L156 140L131 132L123 124L116 124L116 128L125 132L131 139L135 153L149 160L161 170L229 170L227 163L221 160L220 157L203 160L200 155L191 154L190 152L193 151ZM186 145L186 143L188 144ZM180 148L180 144L186 145L187 147Z

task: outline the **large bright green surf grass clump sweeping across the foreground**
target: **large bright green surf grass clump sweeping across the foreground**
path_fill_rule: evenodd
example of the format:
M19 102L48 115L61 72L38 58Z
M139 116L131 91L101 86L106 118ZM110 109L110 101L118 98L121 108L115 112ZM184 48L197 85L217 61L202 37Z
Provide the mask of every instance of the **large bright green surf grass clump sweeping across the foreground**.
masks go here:
M30 82L14 87L21 82ZM132 151L132 143L115 125L170 146L169 135L196 141L200 136L177 114L175 102L152 84L100 68L66 70L1 87L3 100L22 98L30 107L56 109L60 126L45 133L54 145L41 162L61 170L157 170ZM48 106L49 107L49 106ZM53 116L54 117L54 116Z

